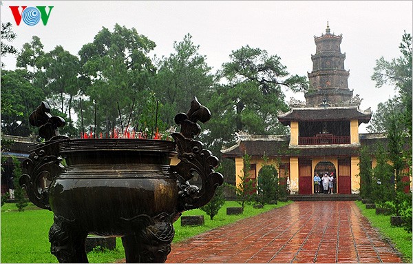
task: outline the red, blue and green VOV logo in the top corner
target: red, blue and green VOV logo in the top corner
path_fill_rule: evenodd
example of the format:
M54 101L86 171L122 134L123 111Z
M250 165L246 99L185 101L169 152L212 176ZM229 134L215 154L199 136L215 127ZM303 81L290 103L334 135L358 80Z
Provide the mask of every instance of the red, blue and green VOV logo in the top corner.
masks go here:
M14 21L16 21L17 26L20 26L22 19L28 26L36 25L41 19L43 25L46 26L53 6L49 6L49 12L46 12L46 6L21 6L21 12L19 11L20 6L9 6L9 8L12 10Z

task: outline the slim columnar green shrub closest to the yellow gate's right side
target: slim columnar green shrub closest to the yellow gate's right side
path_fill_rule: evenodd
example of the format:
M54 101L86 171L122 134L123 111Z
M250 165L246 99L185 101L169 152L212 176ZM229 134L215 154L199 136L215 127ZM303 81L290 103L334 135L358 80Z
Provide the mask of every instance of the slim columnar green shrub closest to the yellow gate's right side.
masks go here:
M371 154L366 147L360 151L360 196L363 199L372 199L372 163Z

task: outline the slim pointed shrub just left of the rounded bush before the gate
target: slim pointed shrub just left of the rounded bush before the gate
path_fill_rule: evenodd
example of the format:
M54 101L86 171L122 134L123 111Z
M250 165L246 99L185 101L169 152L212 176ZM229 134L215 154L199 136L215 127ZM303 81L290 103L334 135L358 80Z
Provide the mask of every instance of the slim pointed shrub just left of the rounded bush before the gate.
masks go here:
M244 168L242 169L242 175L238 176L240 178L240 183L235 186L235 195L237 197L237 203L239 203L242 208L246 204L251 203L253 200L254 192L254 183L251 179L250 170L251 170L251 156L244 154Z

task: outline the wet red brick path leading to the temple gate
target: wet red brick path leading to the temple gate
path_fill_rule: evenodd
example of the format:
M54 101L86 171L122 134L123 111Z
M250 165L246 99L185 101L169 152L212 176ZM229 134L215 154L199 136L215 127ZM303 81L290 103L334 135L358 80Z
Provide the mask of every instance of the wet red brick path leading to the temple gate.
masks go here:
M171 245L167 263L402 263L353 201L297 201Z

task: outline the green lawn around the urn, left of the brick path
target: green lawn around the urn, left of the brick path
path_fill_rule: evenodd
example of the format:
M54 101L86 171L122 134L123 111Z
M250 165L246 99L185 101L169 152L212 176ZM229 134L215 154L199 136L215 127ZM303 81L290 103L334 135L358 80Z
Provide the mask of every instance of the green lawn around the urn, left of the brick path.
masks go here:
M181 227L180 219L173 224L175 238L173 242L195 236L215 227L220 227L237 220L266 212L275 207L287 205L281 202L278 205L265 205L262 209L255 209L247 205L244 214L226 215L226 207L239 206L234 201L228 201L220 210L213 221L202 210L190 210L183 215L204 215L205 225L200 227ZM53 213L47 210L35 210L36 206L30 204L25 212L17 212L17 207L6 203L1 207L1 263L58 263L50 254L48 233L53 223ZM90 252L87 254L89 263L114 263L120 258L125 258L123 245L120 238L116 238L116 249L106 252Z

